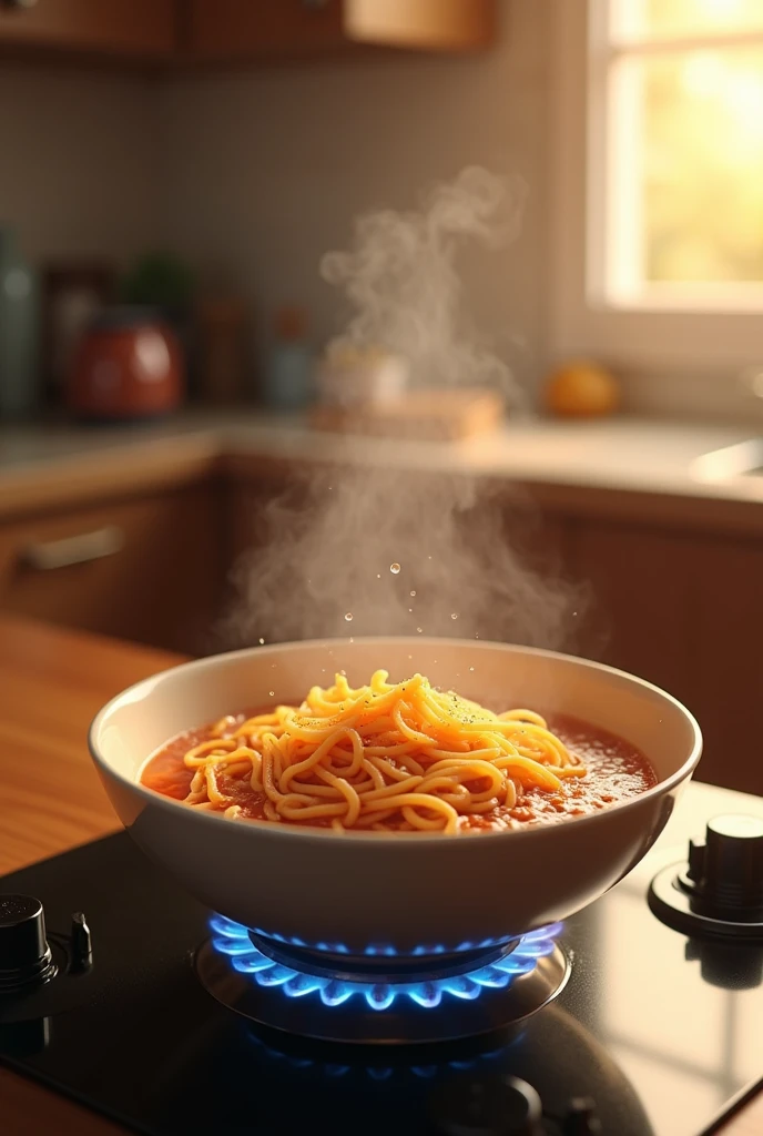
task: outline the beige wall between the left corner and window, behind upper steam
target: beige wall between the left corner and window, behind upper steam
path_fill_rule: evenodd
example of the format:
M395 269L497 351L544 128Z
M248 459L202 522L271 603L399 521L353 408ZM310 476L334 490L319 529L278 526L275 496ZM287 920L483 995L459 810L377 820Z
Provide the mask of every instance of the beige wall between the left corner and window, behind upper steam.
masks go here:
M548 6L501 5L497 47L473 58L397 56L175 80L162 92L162 229L254 306L303 303L318 339L341 303L318 274L372 206L409 208L470 162L517 172L530 197L510 250L464 258L477 321L534 378L544 321Z

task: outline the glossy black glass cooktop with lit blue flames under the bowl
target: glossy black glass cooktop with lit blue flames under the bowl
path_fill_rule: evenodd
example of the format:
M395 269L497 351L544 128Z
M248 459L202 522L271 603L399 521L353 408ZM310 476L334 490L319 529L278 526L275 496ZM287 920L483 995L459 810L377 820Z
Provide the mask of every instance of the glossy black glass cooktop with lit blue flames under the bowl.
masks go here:
M0 989L0 1062L149 1136L710 1133L763 1075L763 946L687 938L652 913L647 889L662 867L685 858L686 838L701 836L706 819L751 810L763 815L752 799L690 787L629 877L536 941L542 971L559 978L570 964L561 993L523 1021L436 1044L309 1041L233 1012L196 974L199 947L210 939L223 1001L228 988L234 996L252 983L276 1006L315 1000L321 1020L359 1006L374 1019L391 1008L384 983L361 989L330 974L308 980L278 944L259 950L181 892L126 834L84 845L0 879L0 893L42 902L45 964L59 970L23 997ZM85 916L92 958L82 919L72 950L75 913ZM437 1031L429 1020L447 1033L459 997L487 1000L486 1008L505 1000L517 975L528 988L537 984L535 947L523 950L527 958L520 952L511 963L476 960L444 992L417 978L405 1004L427 1036ZM350 996L351 988L361 993ZM539 1097L535 1129L512 1127L519 1097L520 1112L538 1106L518 1081Z

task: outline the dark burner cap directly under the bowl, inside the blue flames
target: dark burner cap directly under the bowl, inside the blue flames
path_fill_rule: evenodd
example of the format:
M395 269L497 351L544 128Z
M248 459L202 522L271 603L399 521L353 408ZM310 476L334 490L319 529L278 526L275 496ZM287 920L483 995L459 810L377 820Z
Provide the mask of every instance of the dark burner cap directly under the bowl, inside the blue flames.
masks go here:
M486 967L491 962L511 954L520 942L519 938L514 938L501 946L473 951L395 958L384 954L338 954L333 951L284 945L251 930L249 937L257 950L261 951L268 959L272 959L274 962L280 962L285 967L292 967L307 975L320 975L350 983L436 982L439 978L466 975L470 970Z

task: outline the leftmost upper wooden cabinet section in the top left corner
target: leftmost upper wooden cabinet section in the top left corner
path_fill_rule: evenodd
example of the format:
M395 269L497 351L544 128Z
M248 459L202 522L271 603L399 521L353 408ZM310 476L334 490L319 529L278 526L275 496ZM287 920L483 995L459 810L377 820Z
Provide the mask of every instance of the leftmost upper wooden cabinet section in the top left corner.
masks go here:
M0 0L0 44L169 59L177 15L176 0Z

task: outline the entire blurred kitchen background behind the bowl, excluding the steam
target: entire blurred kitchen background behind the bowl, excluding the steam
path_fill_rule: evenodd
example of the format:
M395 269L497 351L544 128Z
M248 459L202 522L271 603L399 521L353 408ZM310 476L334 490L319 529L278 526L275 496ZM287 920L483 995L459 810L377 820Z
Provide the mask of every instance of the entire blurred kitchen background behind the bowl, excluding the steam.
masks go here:
M0 611L218 650L284 492L460 477L763 791L763 0L3 0L0 100ZM491 366L343 339L358 218L496 178L437 261Z

